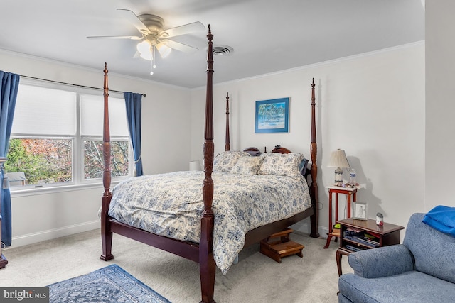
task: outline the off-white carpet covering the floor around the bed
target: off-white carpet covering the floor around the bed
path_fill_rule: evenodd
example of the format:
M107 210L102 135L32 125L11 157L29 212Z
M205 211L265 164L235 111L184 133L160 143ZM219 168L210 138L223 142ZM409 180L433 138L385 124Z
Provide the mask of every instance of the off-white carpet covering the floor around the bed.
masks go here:
M304 258L291 255L277 263L259 253L259 244L243 250L227 275L215 277L215 300L222 302L338 302L338 243L323 249L324 238L291 233L305 246ZM199 302L197 263L114 235L114 260L100 260L100 231L4 250L9 263L0 270L1 286L36 287L84 275L115 263L171 302ZM343 257L343 272L352 272Z

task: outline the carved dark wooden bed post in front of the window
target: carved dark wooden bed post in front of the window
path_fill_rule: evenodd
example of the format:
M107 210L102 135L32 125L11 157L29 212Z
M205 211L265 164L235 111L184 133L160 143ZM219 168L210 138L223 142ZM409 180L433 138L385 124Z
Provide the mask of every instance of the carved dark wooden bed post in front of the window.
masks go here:
M104 125L102 133L102 157L104 161L104 170L102 173L102 184L105 187L105 193L102 195L101 202L101 241L102 241L102 260L111 260L114 258L112 255L112 231L109 231L109 221L107 220L107 211L109 211L109 204L111 202L112 193L111 187L111 138L109 131L109 88L107 87L107 64L105 63L105 82L103 86L104 96Z

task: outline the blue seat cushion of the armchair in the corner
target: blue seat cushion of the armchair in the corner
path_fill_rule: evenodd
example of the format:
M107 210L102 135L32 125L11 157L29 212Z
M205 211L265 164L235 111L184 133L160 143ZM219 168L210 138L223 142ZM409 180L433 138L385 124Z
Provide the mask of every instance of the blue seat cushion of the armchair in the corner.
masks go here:
M352 302L454 302L455 285L417 271L367 279L341 275L340 294Z

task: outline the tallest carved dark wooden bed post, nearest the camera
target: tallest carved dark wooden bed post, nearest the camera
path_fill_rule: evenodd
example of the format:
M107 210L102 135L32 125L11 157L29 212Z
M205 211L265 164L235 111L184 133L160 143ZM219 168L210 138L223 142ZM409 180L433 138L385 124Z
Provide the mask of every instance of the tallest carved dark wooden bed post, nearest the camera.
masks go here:
M205 141L204 141L204 172L203 202L204 211L201 219L199 242L199 271L202 300L204 303L215 302L213 292L215 289L215 260L213 259L213 35L208 25L208 50L207 50L207 94L205 96Z

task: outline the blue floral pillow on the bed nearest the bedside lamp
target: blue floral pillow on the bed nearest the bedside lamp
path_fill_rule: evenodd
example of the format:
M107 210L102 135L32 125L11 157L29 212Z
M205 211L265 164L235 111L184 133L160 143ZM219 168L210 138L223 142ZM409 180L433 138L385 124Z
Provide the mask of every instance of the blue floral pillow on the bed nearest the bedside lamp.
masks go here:
M267 153L257 172L259 175L279 175L300 177L299 165L304 155L301 153Z

